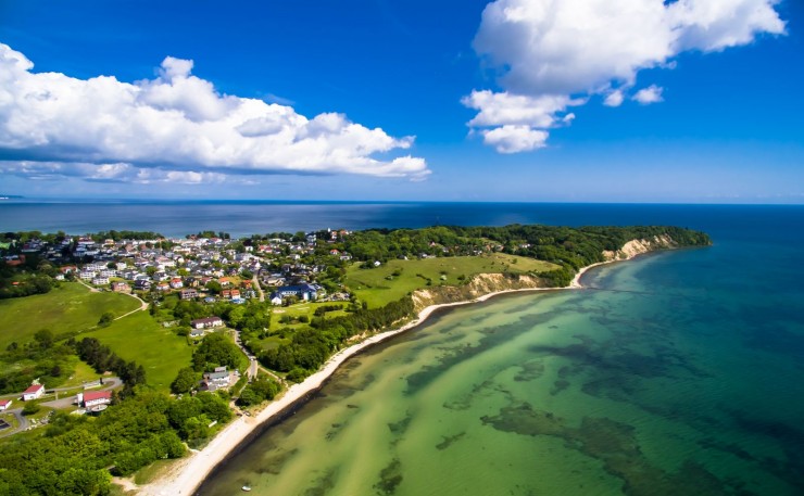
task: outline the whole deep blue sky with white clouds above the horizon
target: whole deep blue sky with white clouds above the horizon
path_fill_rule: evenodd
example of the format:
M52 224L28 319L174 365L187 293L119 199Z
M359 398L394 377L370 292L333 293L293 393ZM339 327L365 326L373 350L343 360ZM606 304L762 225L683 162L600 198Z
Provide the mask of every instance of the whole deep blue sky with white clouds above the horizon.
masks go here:
M804 203L802 30L797 0L0 0L0 193Z

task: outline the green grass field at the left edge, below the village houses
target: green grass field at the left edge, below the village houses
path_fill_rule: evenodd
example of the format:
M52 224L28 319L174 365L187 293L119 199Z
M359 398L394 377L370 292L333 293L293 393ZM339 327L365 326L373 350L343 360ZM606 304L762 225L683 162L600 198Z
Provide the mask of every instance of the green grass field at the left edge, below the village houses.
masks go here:
M65 282L47 294L0 301L0 349L16 341L32 341L36 331L59 335L88 329L105 311L115 316L139 307L135 298L116 293L91 293L77 282Z

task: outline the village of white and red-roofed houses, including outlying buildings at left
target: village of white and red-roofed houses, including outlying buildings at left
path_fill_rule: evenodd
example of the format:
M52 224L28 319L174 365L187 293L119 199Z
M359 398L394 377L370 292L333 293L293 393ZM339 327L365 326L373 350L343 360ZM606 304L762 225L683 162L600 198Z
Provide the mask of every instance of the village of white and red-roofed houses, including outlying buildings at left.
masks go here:
M216 236L114 240L86 234L50 241L35 237L20 246L7 245L3 251L8 266L22 265L27 257L47 260L55 268L54 280L80 283L91 292L129 295L140 301L138 310L151 308L151 314L158 316L155 310L171 298L209 308L219 303L244 305L250 301L266 302L275 307L311 302L349 302L351 295L339 284L330 280L323 284L318 280L326 275L327 267L349 263L351 256L348 253L329 247L349 234L344 230L304 236L286 233L254 243L249 239L231 240ZM188 338L196 343L209 333L227 329L224 319L217 315L185 323L189 327ZM171 328L180 326L180 322L164 320L161 325ZM252 380L257 374L255 356L243 345L240 332L231 331L235 343L250 361L246 376ZM227 391L240 379L237 368L215 367L203 372L192 391ZM99 415L112 404L112 393L122 384L121 379L110 377L109 372L106 377L87 381L77 389L46 389L35 380L20 394L13 397L7 394L0 398L0 414L14 414L17 420L16 429L11 429L3 420L0 435L48 423L48 417L34 419L32 423L16 402L32 404L38 400L38 404L54 409Z

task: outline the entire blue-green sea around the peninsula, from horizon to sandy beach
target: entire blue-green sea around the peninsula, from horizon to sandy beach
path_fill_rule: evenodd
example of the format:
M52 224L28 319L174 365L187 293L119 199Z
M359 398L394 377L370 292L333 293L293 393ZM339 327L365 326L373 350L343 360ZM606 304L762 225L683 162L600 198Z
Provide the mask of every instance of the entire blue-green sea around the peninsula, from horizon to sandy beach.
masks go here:
M347 361L198 494L804 494L804 206L0 204L2 231L513 222L676 225L714 244L442 309Z

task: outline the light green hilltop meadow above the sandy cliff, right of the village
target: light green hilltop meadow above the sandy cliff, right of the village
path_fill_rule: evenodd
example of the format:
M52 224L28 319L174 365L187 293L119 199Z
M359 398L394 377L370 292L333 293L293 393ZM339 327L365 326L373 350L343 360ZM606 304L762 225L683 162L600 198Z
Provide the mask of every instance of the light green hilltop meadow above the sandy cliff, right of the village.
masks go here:
M494 253L415 260L391 260L377 268L361 269L353 264L347 270L346 285L370 308L400 300L405 294L430 285L461 285L478 274L538 272L558 268L549 262ZM398 274L394 276L394 272ZM460 278L463 276L464 280Z

